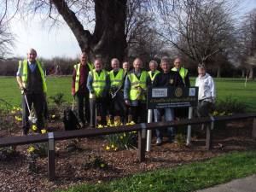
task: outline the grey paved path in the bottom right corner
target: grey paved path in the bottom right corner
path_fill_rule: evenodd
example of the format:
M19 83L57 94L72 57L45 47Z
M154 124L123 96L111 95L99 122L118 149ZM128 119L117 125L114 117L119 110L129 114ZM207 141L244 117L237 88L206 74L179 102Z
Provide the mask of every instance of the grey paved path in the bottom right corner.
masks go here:
M201 189L197 192L256 192L256 175L239 178L208 189Z

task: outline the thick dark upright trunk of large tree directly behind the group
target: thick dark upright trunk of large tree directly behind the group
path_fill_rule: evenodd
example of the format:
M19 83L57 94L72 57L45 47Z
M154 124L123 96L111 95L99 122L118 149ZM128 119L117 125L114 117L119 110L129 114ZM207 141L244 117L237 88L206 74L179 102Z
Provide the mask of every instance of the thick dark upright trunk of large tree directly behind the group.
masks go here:
M125 57L125 19L127 0L95 0L96 26L93 34L93 52L104 61Z

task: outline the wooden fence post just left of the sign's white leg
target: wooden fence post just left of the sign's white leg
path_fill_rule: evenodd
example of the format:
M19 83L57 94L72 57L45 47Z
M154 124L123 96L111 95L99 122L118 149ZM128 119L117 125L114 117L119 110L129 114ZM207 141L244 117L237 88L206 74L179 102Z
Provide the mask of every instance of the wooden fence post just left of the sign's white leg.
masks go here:
M146 149L146 124L141 124L142 129L138 131L137 156L140 162L145 161Z

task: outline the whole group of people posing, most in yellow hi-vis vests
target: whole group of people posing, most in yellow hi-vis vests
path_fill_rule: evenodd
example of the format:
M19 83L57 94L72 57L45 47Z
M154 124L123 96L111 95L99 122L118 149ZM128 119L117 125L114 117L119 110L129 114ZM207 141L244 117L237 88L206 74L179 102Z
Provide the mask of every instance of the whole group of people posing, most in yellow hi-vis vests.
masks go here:
M44 127L44 102L46 101L46 83L42 65L36 59L35 49L29 49L27 59L19 62L17 81L22 97L23 134L29 131L28 108L32 103L37 115L38 131ZM156 61L149 62L149 71L143 70L143 61L136 58L133 67L125 61L120 67L119 60L111 60L112 69L104 69L102 59L89 61L86 52L80 55L80 61L73 67L72 95L77 99L79 120L82 126L107 125L107 115L113 123L119 116L121 122L134 121L145 123L147 119L147 87L157 86L190 86L189 72L181 66L181 59L176 58L173 67L168 57L161 58L160 67ZM198 115L207 116L215 102L216 93L212 77L206 73L204 65L198 66L199 76L195 86L199 87ZM154 121L162 117L166 121L174 119L173 108L154 109ZM99 116L100 119L96 117ZM167 129L168 141L173 142L174 130ZM156 130L156 144L163 140L162 131Z

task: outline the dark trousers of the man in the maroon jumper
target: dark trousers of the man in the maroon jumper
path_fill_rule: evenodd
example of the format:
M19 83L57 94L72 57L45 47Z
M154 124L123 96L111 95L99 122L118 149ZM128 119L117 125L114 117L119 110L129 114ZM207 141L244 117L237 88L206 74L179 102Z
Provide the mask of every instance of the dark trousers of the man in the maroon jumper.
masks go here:
M90 102L89 102L89 91L85 93L77 93L77 105L80 121L85 124L85 122L90 123Z

